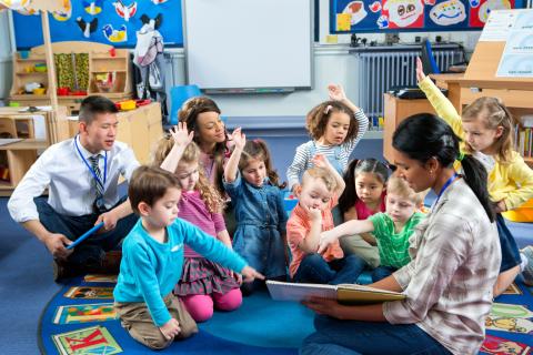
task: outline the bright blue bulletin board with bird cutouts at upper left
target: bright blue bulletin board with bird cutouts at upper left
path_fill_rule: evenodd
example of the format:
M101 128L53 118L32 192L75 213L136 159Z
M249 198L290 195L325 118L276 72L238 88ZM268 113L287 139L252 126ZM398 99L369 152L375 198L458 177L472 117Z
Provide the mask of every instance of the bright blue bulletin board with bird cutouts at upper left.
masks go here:
M117 48L134 48L135 32L143 26L141 17L155 19L165 45L182 47L183 31L181 0L64 0L64 13L50 17L52 42L93 41ZM41 18L13 11L14 36L18 49L43 43Z

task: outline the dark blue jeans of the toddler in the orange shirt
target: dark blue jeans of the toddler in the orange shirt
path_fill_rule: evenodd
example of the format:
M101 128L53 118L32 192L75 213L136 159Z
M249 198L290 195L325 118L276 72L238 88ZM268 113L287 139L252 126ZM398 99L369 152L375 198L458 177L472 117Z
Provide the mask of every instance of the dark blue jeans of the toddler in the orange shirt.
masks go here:
M356 255L326 262L320 254L308 254L300 263L294 282L315 284L354 284L366 263Z

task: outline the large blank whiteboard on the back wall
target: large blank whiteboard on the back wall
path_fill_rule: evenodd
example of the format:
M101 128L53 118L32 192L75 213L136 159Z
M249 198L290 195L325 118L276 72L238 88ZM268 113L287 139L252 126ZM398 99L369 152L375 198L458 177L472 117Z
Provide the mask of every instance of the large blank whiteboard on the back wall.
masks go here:
M311 88L311 0L183 0L188 82L237 92Z

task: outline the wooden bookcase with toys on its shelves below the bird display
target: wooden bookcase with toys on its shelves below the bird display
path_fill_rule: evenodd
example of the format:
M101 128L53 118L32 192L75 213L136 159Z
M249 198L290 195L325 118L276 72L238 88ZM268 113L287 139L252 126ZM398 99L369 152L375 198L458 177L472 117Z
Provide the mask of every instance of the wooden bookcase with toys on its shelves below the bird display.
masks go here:
M88 80L81 80L78 88L62 88L57 83L58 102L72 114L79 110L80 102L90 94L104 95L113 101L132 98L130 53L127 49L115 49L109 44L95 42L56 42L52 43L54 54L88 54L88 68L79 68L78 72L71 70L74 65L61 69L56 65L56 73L60 75L87 75ZM67 55L67 62L69 58ZM76 57L72 57L76 62ZM70 63L69 63L70 64ZM84 65L83 65L84 67ZM10 101L19 102L20 105L49 105L50 93L48 92L48 68L46 68L44 47L32 48L29 52L13 54L13 84L10 91ZM111 84L99 85L98 78L109 75ZM59 77L58 77L59 78ZM58 81L58 78L56 80ZM78 80L74 80L78 81ZM41 92L26 93L24 85L28 83L41 83L44 90ZM84 84L82 82L86 82Z

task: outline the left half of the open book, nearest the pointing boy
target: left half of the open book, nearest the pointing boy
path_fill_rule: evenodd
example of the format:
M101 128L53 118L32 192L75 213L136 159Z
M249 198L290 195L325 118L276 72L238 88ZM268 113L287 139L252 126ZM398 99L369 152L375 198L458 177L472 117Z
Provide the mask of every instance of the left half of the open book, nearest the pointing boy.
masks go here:
M266 281L270 296L275 301L304 301L310 297L336 300L336 286L320 284L296 284Z

